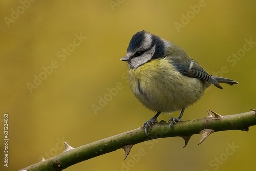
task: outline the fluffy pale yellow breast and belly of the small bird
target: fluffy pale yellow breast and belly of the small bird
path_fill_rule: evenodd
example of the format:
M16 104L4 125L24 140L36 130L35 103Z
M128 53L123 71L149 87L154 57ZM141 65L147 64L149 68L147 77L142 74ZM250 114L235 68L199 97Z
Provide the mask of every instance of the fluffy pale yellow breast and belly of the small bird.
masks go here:
M203 83L182 75L167 59L155 59L130 69L130 87L148 109L173 112L195 103L203 95Z

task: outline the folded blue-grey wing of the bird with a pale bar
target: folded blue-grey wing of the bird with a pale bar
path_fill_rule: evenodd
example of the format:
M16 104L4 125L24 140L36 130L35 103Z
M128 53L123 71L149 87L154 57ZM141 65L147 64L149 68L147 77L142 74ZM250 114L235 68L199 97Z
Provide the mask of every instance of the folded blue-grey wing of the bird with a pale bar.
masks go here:
M173 61L172 64L183 75L193 77L193 78L202 79L204 81L214 84L214 86L216 86L220 89L223 89L220 86L220 84L214 78L212 78L212 76L193 59L191 59L190 63L181 64L181 63Z

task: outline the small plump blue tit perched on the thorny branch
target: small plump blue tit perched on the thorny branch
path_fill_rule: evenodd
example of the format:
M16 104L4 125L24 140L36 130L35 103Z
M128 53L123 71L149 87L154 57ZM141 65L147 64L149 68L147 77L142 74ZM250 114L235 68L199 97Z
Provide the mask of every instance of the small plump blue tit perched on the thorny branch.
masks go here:
M143 124L146 135L161 112L181 110L178 118L168 120L171 129L181 121L184 110L198 101L211 84L219 89L223 89L219 83L238 84L210 75L179 46L144 30L133 35L121 60L128 63L133 94L146 108L157 112Z

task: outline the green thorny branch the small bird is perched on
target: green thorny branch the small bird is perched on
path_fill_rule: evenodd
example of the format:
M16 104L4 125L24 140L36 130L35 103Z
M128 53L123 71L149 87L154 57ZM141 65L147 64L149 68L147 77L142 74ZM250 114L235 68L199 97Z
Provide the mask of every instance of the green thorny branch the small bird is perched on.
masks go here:
M226 130L248 131L250 126L256 125L256 110L236 114L221 116L214 111L208 111L208 116L203 119L177 122L169 130L169 124L165 121L156 123L147 137L142 127L125 133L114 135L87 145L73 148L65 143L65 150L58 156L28 166L22 170L39 171L39 170L63 170L73 164L96 156L103 155L123 148L125 158L129 154L133 145L151 139L176 137L180 136L185 140L185 146L193 134L202 134L199 144L211 133ZM184 146L184 147L185 147ZM21 171L21 170L20 170Z

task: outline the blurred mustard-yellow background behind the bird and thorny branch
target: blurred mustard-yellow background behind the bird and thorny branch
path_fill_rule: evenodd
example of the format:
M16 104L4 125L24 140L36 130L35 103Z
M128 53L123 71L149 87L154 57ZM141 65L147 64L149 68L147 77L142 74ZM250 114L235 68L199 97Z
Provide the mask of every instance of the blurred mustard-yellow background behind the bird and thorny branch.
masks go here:
M238 86L212 87L183 120L256 108L255 1L1 1L0 126L9 114L8 168L19 170L62 153L135 129L155 113L134 97L125 56L133 34L146 30L182 47L210 74ZM167 121L178 117L160 115ZM214 133L201 145L194 135L140 143L125 161L122 149L66 170L255 169L256 126ZM232 148L230 147L232 146ZM231 153L232 152L232 153ZM2 170L2 169L1 169Z

